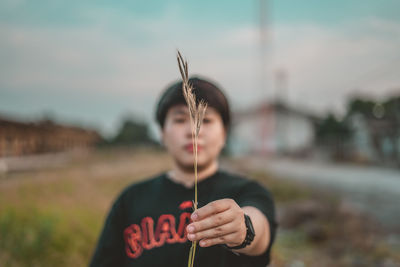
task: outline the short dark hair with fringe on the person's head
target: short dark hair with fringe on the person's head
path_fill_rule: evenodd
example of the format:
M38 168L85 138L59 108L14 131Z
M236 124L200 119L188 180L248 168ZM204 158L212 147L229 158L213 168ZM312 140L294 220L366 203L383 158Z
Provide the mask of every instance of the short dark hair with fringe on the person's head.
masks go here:
M196 95L197 104L203 99L209 107L213 107L220 114L225 130L229 129L231 114L229 103L224 93L213 83L193 77L189 79L193 86L193 93ZM156 120L161 128L164 127L168 110L179 104L186 104L182 92L182 81L175 82L169 86L161 95L156 109Z

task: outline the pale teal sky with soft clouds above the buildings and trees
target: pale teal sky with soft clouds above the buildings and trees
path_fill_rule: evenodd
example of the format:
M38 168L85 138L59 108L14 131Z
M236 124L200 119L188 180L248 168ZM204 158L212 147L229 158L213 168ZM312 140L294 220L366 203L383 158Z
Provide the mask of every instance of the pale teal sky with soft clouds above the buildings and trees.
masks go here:
M352 95L400 94L398 0L264 1L261 48L260 0L2 0L0 116L106 136L123 117L154 122L160 92L180 78L177 49L236 110L284 95L341 114Z

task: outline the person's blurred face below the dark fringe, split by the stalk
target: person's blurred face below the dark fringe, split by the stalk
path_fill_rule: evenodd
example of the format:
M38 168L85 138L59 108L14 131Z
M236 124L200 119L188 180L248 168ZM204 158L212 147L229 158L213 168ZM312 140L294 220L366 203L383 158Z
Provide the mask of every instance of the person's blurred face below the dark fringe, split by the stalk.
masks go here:
M198 168L206 168L217 160L225 145L225 128L219 113L208 107L198 137ZM177 165L193 170L193 143L189 109L186 105L171 107L162 129L162 140Z

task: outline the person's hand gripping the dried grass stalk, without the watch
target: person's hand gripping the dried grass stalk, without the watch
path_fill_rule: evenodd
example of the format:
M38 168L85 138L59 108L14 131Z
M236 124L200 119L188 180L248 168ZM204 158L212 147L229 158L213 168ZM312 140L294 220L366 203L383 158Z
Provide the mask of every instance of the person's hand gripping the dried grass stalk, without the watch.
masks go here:
M233 199L213 201L192 214L186 228L188 239L201 247L217 244L240 245L246 237L244 211Z

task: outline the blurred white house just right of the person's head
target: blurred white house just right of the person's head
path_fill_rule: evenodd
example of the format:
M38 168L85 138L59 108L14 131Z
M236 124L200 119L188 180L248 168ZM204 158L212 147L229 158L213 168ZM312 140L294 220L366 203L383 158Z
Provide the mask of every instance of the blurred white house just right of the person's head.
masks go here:
M229 150L236 155L304 153L313 146L316 120L281 103L235 112Z

